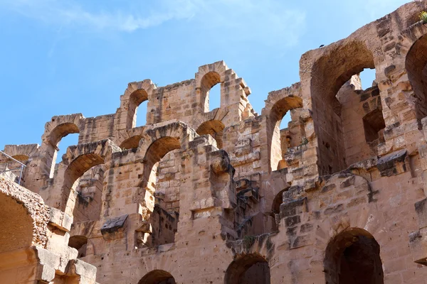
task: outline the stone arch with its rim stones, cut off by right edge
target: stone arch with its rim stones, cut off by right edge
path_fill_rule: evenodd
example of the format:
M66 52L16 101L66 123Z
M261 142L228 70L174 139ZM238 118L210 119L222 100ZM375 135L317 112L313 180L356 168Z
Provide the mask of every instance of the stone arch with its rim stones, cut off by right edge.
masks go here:
M402 91L413 91L413 104L421 128L421 119L427 116L427 27L418 22L401 34L401 50L411 86L402 84Z

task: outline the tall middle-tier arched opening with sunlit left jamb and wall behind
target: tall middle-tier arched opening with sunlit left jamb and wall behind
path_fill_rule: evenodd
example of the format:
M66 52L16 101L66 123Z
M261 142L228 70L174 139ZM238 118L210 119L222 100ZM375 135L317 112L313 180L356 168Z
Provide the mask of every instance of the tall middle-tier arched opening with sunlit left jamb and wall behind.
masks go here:
M152 230L142 238L147 246L174 242L179 222L180 149L177 138L163 137L154 141L145 154L145 200L153 204L149 206Z

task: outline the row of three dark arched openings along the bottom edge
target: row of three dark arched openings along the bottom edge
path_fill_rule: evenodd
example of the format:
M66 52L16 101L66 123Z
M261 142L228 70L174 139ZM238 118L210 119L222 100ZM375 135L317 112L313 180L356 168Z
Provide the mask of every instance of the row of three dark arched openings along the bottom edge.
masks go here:
M374 236L359 228L347 229L327 245L323 262L327 284L383 284L380 247ZM138 284L174 284L167 271L154 270ZM270 284L268 260L257 253L237 257L225 271L226 284Z

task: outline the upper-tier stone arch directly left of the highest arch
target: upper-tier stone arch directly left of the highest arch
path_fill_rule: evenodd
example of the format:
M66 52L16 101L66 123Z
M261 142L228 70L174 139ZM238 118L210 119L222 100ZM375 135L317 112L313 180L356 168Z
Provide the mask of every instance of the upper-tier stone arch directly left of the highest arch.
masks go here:
M125 124L122 129L132 129L136 126L139 104L149 100L155 89L157 89L156 85L148 79L127 85L125 94L120 97L120 109L118 109L122 116L120 123Z

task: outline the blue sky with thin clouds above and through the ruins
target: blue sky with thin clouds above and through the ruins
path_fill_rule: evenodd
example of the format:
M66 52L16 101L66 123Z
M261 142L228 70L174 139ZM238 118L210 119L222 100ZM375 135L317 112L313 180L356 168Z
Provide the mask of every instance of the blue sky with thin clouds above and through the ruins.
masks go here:
M114 113L128 82L164 86L218 60L246 80L260 113L268 92L299 81L302 53L406 2L0 0L0 149L40 144L55 115ZM61 152L77 141L67 139Z

